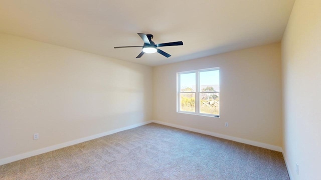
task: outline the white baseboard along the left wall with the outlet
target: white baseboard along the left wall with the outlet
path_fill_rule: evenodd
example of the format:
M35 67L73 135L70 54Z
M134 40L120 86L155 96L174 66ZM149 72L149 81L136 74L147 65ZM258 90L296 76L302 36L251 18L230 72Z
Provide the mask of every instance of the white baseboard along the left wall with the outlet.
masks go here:
M10 162L13 162L13 161L17 161L17 160L21 160L21 159L24 159L24 158L28 158L28 157L31 157L31 156L39 155L39 154L42 154L42 153L50 152L50 151L57 150L57 149L60 149L60 148L63 148L63 147L67 147L67 146L74 145L74 144L77 144L77 143L81 143L81 142L85 142L85 141L92 140L92 139L95 139L95 138L99 138L99 137L102 137L102 136L105 136L105 135L109 135L109 134L113 134L113 133L116 133L116 132L120 132L120 131L123 131L123 130L131 129L131 128L138 127L138 126L141 126L141 125L145 125L145 124L148 124L148 123L151 123L151 122L152 121L140 122L140 123L137 123L137 124L133 124L133 125L117 128L117 129L110 130L110 131L107 131L107 132L102 132L102 133L99 133L99 134L90 135L90 136L87 136L87 137L83 137L83 138L71 140L71 141L68 141L68 142L52 145L52 146L49 146L49 147L33 150L33 151L30 151L30 152L26 152L26 153L14 155L14 156L6 157L6 158L3 158L3 159L0 159L0 165L6 164L6 163L10 163Z

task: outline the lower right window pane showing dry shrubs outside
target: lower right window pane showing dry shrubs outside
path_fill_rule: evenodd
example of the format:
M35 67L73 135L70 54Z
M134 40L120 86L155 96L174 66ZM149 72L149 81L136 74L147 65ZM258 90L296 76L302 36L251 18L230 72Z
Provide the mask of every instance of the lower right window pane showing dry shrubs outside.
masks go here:
M219 93L200 93L200 112L220 114Z

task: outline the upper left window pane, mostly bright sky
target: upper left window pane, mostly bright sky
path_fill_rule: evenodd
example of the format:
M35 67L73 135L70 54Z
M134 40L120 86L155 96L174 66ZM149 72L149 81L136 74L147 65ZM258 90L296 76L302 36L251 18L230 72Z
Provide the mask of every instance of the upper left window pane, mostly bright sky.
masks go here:
M180 74L181 92L195 92L196 89L196 73Z

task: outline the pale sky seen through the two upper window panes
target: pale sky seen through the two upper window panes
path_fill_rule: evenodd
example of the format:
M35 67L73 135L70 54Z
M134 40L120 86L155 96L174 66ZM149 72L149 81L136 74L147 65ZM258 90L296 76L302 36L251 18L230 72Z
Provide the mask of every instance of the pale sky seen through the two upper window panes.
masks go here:
M196 74L185 73L181 74L181 88L195 87ZM220 84L220 70L210 70L200 72L200 85L219 85Z

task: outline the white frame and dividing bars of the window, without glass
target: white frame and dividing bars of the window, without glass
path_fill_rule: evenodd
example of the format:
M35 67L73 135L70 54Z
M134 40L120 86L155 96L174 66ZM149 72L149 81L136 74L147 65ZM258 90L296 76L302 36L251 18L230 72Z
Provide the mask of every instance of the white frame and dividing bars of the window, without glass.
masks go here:
M177 112L179 113L188 113L188 114L194 114L194 115L202 115L202 116L210 116L210 117L216 117L219 118L221 116L221 95L220 91L212 91L212 92L202 92L200 89L200 72L205 71L212 71L212 70L219 70L219 76L220 75L220 67L213 67L213 68L206 68L206 69L199 69L199 70L189 70L189 71L183 71L183 72L177 72ZM187 73L195 73L195 91L193 92L182 92L181 91L181 74L187 74ZM219 77L220 78L220 77ZM220 84L219 84L220 85ZM181 93L195 93L195 112L191 111L183 111L180 110L181 106ZM219 114L208 114L208 113L201 113L200 112L200 93L218 93L219 94Z

